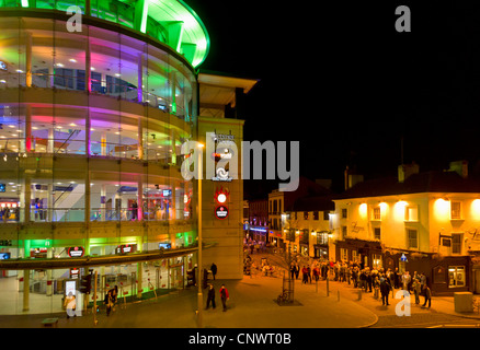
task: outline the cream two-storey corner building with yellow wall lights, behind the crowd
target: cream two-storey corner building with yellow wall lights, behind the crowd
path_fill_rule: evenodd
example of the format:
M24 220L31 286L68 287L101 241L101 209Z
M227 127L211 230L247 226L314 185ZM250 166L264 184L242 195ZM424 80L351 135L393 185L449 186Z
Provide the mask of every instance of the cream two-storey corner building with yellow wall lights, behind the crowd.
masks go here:
M335 199L331 259L363 267L422 272L432 293L479 291L480 182L468 164L362 182Z

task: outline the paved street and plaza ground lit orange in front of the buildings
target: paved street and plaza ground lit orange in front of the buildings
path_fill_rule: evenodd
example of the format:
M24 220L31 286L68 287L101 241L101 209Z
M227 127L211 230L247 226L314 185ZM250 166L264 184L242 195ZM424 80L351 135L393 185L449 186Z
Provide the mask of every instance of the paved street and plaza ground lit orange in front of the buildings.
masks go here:
M253 256L259 259L260 256ZM256 271L240 280L212 281L216 290L216 308L205 310L207 290L203 291L202 319L204 328L365 328L374 326L379 316L396 315L400 299L390 294L390 305L382 306L373 293L354 289L346 282L327 281L304 284L295 281L295 302L281 306L276 298L282 292L282 277L265 277ZM227 312L222 312L219 295L225 283L230 299ZM1 303L1 301L0 301ZM421 304L423 296L421 296ZM190 288L137 303L118 300L116 310L106 316L102 307L96 315L83 314L67 319L66 313L28 315L2 315L1 328L43 328L45 318L58 318L58 328L196 328L197 289ZM411 314L445 313L477 318L475 313L457 313L453 296L433 296L432 307L414 304L411 296Z

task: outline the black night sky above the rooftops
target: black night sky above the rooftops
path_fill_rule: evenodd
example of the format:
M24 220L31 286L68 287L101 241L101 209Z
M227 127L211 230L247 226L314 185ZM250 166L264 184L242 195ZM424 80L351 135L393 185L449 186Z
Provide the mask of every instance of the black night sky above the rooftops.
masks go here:
M346 165L393 176L401 140L421 172L468 160L479 173L480 11L467 1L185 2L210 36L201 69L261 80L244 139L300 141L300 175L338 190ZM399 5L411 33L395 28Z

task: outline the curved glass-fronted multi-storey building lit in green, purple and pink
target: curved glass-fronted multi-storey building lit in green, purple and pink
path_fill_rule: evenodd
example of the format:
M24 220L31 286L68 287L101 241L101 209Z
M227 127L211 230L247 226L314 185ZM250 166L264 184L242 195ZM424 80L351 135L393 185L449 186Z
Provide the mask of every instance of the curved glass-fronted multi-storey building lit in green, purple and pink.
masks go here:
M82 13L75 30L71 5ZM245 89L199 82L209 47L201 19L181 0L2 1L0 19L8 313L35 312L36 295L57 311L89 269L101 291L118 285L129 298L184 288L196 264L198 196L196 180L181 175L181 144L198 139L201 95L228 90L203 109L209 130L221 130L226 116L212 110L235 113L235 91ZM235 125L241 135L242 121ZM236 185L230 220L242 210Z

